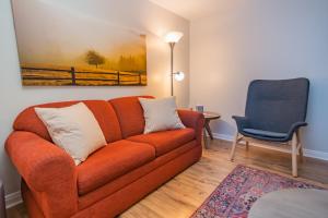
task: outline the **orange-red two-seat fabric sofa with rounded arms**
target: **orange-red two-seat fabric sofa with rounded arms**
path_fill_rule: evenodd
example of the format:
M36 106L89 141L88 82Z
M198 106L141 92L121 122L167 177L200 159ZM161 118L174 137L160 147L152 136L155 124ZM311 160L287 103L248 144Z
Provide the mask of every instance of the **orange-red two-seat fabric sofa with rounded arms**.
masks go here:
M115 217L201 157L203 116L198 112L178 110L186 129L142 134L137 96L83 102L108 145L79 166L52 144L36 106L22 111L13 124L5 149L22 175L22 195L32 218Z

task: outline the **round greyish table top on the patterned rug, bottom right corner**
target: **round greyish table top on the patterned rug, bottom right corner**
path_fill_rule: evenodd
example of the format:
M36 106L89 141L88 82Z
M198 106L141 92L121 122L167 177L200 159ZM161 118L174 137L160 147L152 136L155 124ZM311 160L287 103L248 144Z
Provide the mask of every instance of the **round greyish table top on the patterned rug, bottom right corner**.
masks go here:
M265 194L251 206L249 218L321 218L328 214L328 191L288 189Z

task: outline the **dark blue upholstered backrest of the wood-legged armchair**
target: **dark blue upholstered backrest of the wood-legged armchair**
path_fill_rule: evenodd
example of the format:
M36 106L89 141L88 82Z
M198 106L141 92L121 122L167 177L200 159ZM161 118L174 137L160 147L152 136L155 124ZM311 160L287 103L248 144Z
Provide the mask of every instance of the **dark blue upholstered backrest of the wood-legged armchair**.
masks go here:
M253 81L245 116L254 129L286 133L293 123L305 121L308 89L307 78Z

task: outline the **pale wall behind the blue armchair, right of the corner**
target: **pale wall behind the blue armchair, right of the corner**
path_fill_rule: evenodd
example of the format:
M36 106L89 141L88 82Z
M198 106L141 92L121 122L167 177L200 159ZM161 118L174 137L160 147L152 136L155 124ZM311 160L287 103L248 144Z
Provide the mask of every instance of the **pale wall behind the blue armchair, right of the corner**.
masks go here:
M220 13L190 23L190 105L222 113L213 131L232 137L236 128L231 117L244 114L251 80L308 77L304 143L307 149L326 152L321 155L327 158L328 1L225 3Z

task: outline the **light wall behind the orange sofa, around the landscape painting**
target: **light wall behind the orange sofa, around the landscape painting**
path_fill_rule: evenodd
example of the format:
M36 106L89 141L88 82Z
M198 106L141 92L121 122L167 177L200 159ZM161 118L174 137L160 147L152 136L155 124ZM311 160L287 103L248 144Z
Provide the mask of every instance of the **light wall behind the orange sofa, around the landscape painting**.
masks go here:
M148 86L145 87L23 87L10 0L0 1L0 178L7 193L20 189L20 178L8 159L3 144L16 114L27 106L69 99L108 99L116 96L149 94L169 95L169 47L161 38L177 29L185 36L176 46L175 68L186 72L176 84L178 105L189 105L189 22L150 3L148 0L39 0L90 16L96 16L148 35ZM31 14L33 15L33 14ZM73 40L73 39L72 39Z

